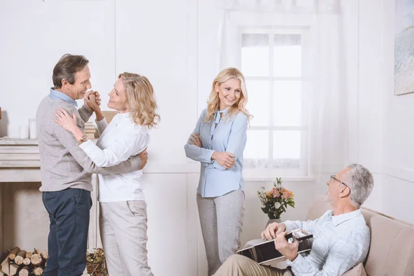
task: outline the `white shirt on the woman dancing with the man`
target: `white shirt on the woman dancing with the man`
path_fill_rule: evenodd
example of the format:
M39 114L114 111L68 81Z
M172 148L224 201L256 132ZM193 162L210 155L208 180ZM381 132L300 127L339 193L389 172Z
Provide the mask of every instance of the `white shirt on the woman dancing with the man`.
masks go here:
M138 155L149 142L150 135L146 126L135 124L130 113L117 114L110 124L106 119L96 121L100 137L95 145L92 141L80 147L99 167L115 166L132 155ZM116 202L144 200L141 185L142 170L124 175L98 175L99 201Z

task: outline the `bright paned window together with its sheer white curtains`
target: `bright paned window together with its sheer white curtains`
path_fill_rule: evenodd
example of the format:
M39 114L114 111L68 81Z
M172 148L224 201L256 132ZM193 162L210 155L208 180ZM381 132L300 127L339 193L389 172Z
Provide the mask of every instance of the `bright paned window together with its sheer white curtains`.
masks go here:
M217 71L246 76L250 177L318 177L346 164L342 2L218 1Z

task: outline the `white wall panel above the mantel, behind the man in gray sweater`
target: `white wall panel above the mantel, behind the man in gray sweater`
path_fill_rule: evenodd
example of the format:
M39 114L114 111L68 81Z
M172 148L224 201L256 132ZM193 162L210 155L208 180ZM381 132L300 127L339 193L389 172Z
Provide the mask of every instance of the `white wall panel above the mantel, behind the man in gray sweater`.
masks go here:
M113 0L0 1L0 135L18 137L19 126L36 117L53 67L68 52L90 60L94 88L112 86L113 6Z

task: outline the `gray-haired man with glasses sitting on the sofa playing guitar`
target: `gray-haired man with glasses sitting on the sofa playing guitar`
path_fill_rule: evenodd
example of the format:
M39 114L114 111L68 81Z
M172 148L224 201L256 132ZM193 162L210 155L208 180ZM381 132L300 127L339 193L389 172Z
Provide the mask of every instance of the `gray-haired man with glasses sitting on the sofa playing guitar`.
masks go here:
M326 211L315 221L273 223L262 233L262 239L275 239L275 248L287 259L287 269L261 266L242 255L232 255L215 276L342 275L364 262L370 233L359 208L373 190L373 175L364 166L352 164L331 175L326 184L326 200L333 210ZM313 234L309 255L299 255L298 244L286 241L286 233L295 229Z

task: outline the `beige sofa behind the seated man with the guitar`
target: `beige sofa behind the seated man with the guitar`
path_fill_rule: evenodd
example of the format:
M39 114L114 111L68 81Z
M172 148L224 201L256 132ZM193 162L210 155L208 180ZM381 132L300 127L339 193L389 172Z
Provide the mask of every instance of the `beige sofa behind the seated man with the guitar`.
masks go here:
M317 219L331 209L324 199L317 199L306 219ZM366 259L368 276L414 276L414 226L368 208L362 208L371 230L371 246Z

